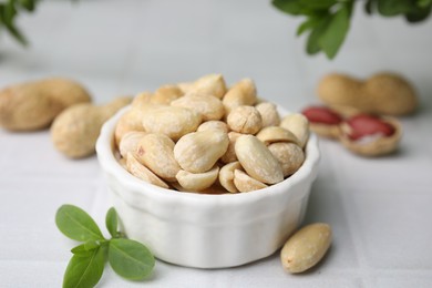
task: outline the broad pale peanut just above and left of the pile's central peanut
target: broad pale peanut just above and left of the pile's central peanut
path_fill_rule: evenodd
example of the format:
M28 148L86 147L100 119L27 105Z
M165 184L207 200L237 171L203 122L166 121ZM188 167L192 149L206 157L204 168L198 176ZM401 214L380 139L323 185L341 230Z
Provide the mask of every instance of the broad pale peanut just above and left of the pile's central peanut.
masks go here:
M165 134L173 141L196 131L202 116L185 107L156 106L143 113L142 123L146 132Z

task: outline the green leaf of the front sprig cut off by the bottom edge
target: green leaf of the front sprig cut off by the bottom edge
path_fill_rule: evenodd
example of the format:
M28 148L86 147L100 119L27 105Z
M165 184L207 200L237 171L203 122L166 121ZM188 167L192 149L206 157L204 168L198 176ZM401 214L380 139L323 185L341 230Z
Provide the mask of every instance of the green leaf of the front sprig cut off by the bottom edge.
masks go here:
M94 287L102 277L105 265L102 248L92 250L88 256L73 255L63 278L63 288Z

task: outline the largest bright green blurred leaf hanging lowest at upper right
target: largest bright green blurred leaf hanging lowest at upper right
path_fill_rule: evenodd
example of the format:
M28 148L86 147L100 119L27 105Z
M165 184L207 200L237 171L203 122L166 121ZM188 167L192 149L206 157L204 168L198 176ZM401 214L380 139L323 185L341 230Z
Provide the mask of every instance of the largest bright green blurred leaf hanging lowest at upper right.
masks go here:
M341 8L331 17L326 31L318 40L319 47L329 59L338 53L350 27L350 9L348 6Z

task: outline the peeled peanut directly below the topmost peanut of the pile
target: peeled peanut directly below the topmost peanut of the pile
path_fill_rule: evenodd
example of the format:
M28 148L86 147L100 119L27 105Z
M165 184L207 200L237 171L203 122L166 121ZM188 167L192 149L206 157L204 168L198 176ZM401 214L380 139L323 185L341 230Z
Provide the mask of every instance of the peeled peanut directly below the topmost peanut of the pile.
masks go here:
M222 101L209 94L187 93L171 105L193 110L202 115L203 121L220 120L225 113Z

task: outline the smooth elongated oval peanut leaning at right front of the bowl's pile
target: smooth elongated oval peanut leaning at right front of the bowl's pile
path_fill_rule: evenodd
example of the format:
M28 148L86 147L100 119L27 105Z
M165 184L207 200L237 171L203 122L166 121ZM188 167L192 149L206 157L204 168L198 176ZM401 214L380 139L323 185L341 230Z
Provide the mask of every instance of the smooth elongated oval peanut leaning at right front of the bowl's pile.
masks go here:
M237 138L235 151L247 174L266 184L284 181L282 168L266 145L253 135Z

